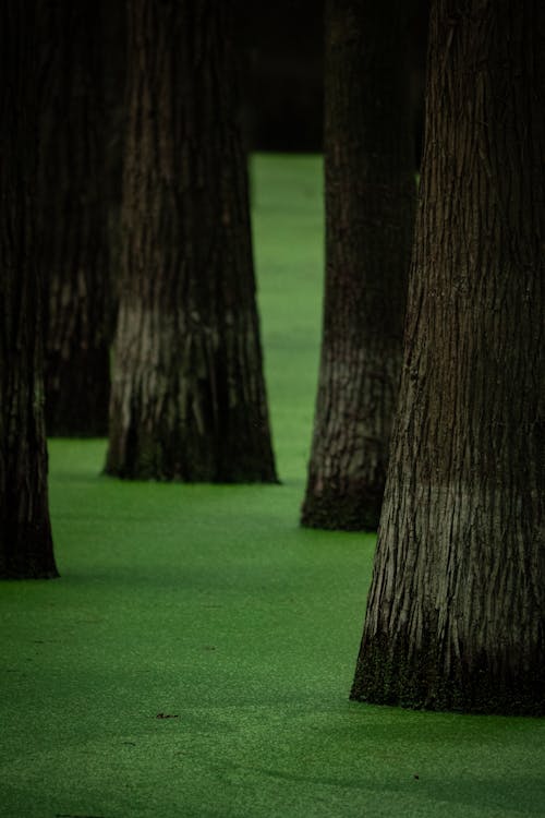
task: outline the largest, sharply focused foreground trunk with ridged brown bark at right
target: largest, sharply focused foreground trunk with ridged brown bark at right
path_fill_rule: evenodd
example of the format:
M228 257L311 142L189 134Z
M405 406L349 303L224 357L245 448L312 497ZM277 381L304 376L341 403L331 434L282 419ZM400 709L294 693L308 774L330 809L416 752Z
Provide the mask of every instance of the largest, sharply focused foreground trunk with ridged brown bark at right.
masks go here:
M545 7L432 11L405 353L352 697L545 713Z

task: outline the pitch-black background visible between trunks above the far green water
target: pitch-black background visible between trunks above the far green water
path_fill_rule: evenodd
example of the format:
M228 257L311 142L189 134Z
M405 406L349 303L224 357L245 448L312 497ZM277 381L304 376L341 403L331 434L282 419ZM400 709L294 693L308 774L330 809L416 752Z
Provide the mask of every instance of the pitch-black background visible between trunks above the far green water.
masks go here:
M419 165L429 0L412 1L411 96ZM249 148L322 151L324 0L278 0L274 4L239 0L235 8L241 113Z

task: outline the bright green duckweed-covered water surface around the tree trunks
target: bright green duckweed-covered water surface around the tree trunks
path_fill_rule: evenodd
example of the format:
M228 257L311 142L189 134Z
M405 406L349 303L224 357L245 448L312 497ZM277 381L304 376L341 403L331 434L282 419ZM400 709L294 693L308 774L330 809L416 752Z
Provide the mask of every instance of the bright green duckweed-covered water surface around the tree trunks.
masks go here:
M542 720L349 702L375 539L298 525L323 279L318 157L257 156L281 485L122 483L50 442L61 579L0 585L7 818L545 815Z

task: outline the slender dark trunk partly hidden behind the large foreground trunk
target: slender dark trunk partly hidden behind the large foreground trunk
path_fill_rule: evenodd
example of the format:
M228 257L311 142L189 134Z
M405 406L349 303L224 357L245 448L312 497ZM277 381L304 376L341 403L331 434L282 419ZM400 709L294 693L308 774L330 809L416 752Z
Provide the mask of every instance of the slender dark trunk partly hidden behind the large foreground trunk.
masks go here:
M302 522L374 529L415 200L404 0L326 2L326 284Z

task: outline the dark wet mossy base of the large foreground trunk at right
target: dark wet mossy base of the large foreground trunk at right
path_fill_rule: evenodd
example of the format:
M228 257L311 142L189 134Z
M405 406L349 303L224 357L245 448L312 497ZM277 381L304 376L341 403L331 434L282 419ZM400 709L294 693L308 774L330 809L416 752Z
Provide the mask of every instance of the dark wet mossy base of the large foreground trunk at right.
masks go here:
M445 651L423 648L408 661L408 652L387 637L362 647L350 698L372 705L417 710L502 715L545 715L545 665L538 646L525 655L525 667L514 667L507 652L484 651L470 662L463 655L445 673Z

